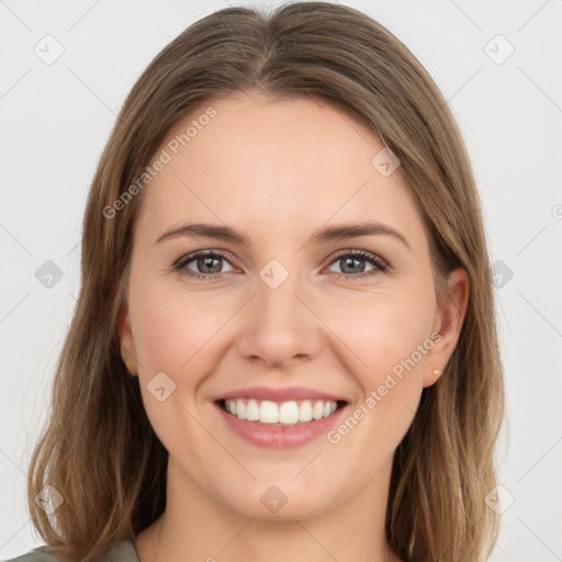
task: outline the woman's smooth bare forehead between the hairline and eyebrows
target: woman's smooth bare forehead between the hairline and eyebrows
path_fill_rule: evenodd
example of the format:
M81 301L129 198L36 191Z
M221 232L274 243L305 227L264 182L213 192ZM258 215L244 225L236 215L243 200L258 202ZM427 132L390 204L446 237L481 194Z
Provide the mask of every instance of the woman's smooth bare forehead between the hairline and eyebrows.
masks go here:
M137 228L155 238L193 220L263 238L376 220L416 237L423 223L400 168L384 177L372 164L383 148L367 124L310 98L203 103L157 150L169 161L145 188Z

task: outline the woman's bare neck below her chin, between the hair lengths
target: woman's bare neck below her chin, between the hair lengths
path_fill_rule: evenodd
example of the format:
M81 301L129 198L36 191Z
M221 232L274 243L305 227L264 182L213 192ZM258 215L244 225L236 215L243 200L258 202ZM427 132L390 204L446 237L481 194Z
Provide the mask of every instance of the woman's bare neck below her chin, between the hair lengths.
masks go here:
M135 540L140 562L401 562L384 532L390 470L347 502L310 517L235 512L168 463L166 512ZM288 504L289 505L289 504Z

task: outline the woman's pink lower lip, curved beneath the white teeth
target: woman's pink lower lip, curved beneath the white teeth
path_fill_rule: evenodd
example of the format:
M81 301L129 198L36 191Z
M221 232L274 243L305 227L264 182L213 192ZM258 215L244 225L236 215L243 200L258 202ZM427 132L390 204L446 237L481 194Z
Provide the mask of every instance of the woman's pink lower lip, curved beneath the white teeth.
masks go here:
M322 419L313 419L295 424L294 426L273 426L260 424L259 422L248 422L239 419L225 412L221 405L214 404L226 425L237 435L257 445L258 447L268 447L270 449L286 449L290 447L300 447L310 443L318 437L326 435L331 427L339 422L347 404L339 407L334 414Z

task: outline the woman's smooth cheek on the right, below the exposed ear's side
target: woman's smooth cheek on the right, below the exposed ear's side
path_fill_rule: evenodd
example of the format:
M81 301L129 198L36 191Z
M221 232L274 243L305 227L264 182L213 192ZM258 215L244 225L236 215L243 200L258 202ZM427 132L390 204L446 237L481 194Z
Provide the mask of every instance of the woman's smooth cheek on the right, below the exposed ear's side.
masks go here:
M434 347L431 291L432 285L419 281L409 290L362 294L331 308L327 324L346 344L339 359L347 358L359 386L353 418L341 428L357 431L355 442L379 443L390 454L406 432Z

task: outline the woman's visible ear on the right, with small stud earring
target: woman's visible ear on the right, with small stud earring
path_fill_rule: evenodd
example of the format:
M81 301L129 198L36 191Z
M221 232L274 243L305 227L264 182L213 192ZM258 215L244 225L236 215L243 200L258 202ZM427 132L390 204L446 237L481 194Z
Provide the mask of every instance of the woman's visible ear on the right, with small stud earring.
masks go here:
M431 353L428 355L424 372L424 387L431 386L442 375L459 341L467 314L470 293L470 281L467 271L463 268L451 271L447 278L447 302L442 310L436 311L434 319L434 331L438 331L441 337L439 340L436 338Z

